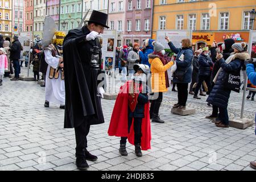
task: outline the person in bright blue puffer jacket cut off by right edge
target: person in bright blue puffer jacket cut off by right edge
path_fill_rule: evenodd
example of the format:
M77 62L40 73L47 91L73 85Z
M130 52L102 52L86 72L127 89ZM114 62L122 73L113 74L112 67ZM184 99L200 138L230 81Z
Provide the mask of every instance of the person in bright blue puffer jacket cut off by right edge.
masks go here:
M246 73L247 73L247 76L248 76L250 82L253 85L256 85L256 72L255 72L256 60L250 59L249 63L250 64L246 65ZM253 63L253 64L251 64L251 63ZM256 114L255 114L255 122L256 122ZM255 135L256 135L256 129L255 129ZM250 162L250 167L253 169L256 169L256 162L255 161Z

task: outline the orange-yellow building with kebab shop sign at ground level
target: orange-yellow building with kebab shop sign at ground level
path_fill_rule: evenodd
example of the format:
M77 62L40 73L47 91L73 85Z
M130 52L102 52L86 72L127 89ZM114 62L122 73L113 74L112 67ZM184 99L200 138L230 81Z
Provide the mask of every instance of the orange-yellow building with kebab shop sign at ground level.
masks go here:
M249 42L254 28L250 13L256 0L155 0L152 38L158 30L193 30L193 48L210 46L224 39Z

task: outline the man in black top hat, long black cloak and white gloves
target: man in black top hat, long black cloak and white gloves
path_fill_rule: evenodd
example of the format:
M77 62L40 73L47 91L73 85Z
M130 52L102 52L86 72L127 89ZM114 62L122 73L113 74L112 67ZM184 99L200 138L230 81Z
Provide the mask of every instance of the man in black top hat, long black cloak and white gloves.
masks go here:
M91 49L101 47L98 38L103 34L108 15L93 10L88 26L73 29L65 36L63 43L64 76L65 76L65 119L64 128L75 127L76 166L79 169L89 168L86 160L97 160L97 156L87 150L86 136L90 125L104 123L101 108L101 97L104 89L97 87L102 80L92 71ZM101 50L99 53L101 60Z

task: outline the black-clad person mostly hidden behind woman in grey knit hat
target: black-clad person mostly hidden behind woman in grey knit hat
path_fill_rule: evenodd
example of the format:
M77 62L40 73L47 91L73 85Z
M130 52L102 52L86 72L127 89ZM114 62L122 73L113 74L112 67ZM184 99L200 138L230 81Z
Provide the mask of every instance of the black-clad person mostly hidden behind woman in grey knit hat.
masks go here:
M224 44L222 44L222 51L223 51L223 59L227 60L228 57L234 50L232 49L232 45L234 44L234 39L225 39ZM216 52L217 55L217 52ZM220 62L216 60L216 62L213 65L213 70L212 70L212 78L214 78L217 75L218 70L221 68ZM214 82L212 81L212 88L214 86ZM205 117L207 119L217 119L218 118L218 107L212 105L212 114ZM220 119L217 119L217 122Z

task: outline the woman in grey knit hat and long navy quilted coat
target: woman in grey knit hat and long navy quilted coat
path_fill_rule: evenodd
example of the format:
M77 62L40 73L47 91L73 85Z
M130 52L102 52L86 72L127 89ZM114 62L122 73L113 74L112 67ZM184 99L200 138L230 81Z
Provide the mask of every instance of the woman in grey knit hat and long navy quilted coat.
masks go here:
M207 99L207 102L219 108L220 114L218 118L220 120L215 122L217 127L229 127L228 101L231 90L225 88L224 80L226 80L229 73L240 73L242 62L249 59L249 54L243 52L245 46L245 43L233 44L234 53L226 61L220 53L217 53L216 58L221 65L221 69L213 80L216 84Z

